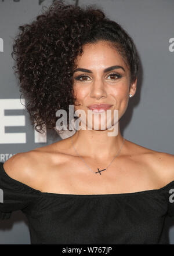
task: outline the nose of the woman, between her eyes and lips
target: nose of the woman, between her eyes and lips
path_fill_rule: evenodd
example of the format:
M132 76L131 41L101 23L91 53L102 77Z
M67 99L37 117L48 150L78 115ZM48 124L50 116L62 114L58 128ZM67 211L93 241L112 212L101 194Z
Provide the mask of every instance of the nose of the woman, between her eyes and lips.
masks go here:
M90 97L96 98L97 100L99 100L102 97L107 97L106 85L104 85L102 78L93 81L92 87L90 89Z

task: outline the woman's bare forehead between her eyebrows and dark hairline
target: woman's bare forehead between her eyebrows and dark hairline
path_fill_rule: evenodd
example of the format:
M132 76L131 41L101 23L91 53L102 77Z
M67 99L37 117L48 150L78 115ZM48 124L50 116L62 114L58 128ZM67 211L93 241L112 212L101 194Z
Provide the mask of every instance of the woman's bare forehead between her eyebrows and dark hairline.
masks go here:
M75 64L79 67L90 67L90 69L106 68L119 64L126 69L124 59L117 49L103 41L84 45L83 53L77 57Z

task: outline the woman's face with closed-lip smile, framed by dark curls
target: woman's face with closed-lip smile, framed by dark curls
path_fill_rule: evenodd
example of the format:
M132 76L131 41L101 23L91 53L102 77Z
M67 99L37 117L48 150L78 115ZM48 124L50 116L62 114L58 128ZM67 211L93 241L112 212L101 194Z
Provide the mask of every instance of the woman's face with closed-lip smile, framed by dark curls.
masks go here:
M100 41L97 44L85 45L84 53L78 56L75 64L77 67L73 74L73 88L77 100L74 110L85 111L86 126L92 129L97 115L101 129L102 122L106 125L106 109L106 116L102 116L93 113L88 106L110 104L111 125L114 125L114 110L118 110L119 120L128 106L129 93L134 95L136 92L136 82L130 84L130 72L124 59L107 42ZM88 118L88 111L93 113L91 121ZM83 118L81 121L83 122Z

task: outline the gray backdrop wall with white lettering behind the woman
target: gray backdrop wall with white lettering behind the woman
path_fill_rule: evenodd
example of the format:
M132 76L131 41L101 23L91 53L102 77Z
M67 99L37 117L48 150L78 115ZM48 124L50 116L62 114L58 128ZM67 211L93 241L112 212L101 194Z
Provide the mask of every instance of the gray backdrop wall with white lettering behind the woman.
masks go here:
M0 0L0 161L63 139L55 132L41 136L34 131L20 103L18 82L12 66L13 37L19 25L41 13L50 0ZM79 0L97 3L106 15L132 36L141 59L135 96L121 120L122 135L132 142L173 154L173 0ZM174 168L173 168L174 171ZM174 244L174 218L166 219L166 235ZM0 244L30 244L27 219L21 211L0 221Z

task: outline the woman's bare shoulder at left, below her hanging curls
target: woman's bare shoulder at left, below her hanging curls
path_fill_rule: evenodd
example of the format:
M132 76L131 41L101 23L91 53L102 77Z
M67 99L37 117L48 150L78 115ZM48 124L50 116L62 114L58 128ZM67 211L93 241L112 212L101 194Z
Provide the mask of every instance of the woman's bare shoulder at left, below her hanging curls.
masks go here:
M41 190L52 167L66 163L67 157L56 150L56 143L17 153L3 164L3 168L11 178L31 188Z

